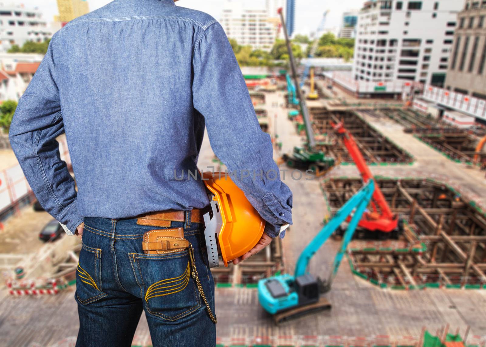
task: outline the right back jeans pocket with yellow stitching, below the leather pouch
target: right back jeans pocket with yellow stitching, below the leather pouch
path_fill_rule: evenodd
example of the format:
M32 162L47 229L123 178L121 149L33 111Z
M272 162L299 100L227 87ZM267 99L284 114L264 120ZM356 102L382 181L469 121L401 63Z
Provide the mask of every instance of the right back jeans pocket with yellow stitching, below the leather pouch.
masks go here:
M129 253L140 296L150 314L175 321L201 307L187 250L167 254Z

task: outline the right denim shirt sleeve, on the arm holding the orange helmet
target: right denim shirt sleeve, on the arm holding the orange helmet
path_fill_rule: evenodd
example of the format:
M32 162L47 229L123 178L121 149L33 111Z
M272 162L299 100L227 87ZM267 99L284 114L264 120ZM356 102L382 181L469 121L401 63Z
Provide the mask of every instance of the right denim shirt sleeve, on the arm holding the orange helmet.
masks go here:
M214 153L268 222L265 232L278 236L281 225L292 224L292 192L280 180L270 135L260 129L241 69L215 20L195 43L193 69L193 104L205 118Z

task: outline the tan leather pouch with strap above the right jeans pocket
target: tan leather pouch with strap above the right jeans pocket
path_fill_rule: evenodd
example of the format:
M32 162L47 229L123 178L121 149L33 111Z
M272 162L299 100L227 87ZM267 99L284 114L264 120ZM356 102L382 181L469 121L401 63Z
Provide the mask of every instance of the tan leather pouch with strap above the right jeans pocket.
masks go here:
M184 228L150 230L143 234L145 254L167 254L184 250L189 241L184 239Z

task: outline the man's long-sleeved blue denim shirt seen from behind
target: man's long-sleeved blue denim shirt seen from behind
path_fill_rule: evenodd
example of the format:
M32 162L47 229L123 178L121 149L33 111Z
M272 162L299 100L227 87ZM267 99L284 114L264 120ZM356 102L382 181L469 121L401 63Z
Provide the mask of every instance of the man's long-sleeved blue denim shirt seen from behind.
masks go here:
M9 139L40 204L72 234L85 216L207 206L201 180L180 180L197 169L205 126L277 236L292 223L292 192L221 25L173 0L115 0L52 37ZM77 192L59 157L63 133Z

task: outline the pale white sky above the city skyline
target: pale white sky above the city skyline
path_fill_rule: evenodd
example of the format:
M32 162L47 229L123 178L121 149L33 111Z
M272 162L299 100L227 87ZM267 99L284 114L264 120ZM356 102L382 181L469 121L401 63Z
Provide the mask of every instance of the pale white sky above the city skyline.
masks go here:
M110 2L110 0L87 0L90 11L96 10ZM232 0L248 2L264 2L265 0ZM314 32L321 20L322 14L330 10L327 16L326 28L338 27L341 23L343 12L351 9L359 9L364 0L296 0L295 1L295 34L310 34ZM38 7L44 12L44 18L48 21L58 13L56 0L14 0L14 3L23 3L25 7ZM221 11L225 0L179 0L178 6L189 7L204 11L217 20L221 19Z

